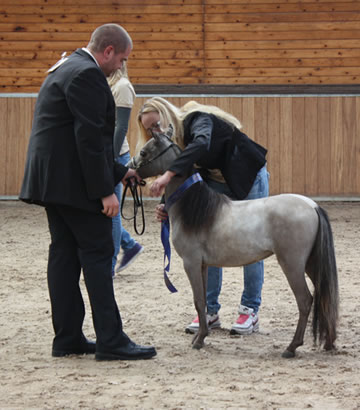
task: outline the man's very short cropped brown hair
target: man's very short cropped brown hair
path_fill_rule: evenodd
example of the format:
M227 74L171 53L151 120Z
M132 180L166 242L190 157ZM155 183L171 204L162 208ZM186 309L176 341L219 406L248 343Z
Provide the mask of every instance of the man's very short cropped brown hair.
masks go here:
M91 34L88 48L97 53L104 51L108 46L113 46L116 54L124 53L128 47L132 48L132 40L129 33L119 24L103 24Z

